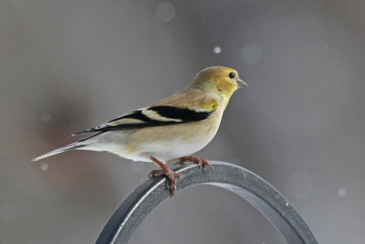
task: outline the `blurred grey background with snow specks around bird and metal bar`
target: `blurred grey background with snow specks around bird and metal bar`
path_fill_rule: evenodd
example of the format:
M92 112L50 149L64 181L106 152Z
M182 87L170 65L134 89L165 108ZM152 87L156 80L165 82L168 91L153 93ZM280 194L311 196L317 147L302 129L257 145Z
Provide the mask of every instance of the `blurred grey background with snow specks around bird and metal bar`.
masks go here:
M199 155L275 186L319 243L365 241L365 2L0 2L0 243L93 243L154 164L39 154L183 89L203 68L239 90ZM196 186L130 243L286 243L244 200Z

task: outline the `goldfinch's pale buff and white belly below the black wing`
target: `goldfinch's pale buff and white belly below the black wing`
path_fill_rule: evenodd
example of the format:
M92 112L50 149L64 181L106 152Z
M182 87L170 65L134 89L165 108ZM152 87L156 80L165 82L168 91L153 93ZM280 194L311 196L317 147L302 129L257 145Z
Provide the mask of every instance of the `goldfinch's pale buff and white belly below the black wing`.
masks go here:
M202 122L203 123L203 122ZM126 142L114 154L134 161L151 162L154 156L161 161L183 157L201 150L214 138L218 124L206 122L203 126L190 123L172 127L150 127L126 134Z

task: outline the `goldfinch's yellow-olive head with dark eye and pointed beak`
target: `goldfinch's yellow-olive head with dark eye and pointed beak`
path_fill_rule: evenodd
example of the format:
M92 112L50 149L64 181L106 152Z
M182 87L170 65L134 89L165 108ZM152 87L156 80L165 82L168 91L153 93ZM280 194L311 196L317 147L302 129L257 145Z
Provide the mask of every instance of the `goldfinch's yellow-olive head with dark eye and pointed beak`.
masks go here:
M248 86L238 78L235 69L214 66L201 70L190 84L190 88L214 92L228 102L235 90Z

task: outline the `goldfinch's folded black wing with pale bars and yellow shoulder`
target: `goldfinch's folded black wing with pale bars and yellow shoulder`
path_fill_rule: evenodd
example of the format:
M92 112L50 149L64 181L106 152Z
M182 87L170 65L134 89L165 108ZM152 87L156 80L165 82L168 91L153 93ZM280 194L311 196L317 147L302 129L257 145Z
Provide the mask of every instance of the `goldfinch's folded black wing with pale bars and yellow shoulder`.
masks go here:
M183 97L186 98L186 96ZM177 102L179 101L178 98L179 95L177 95L177 97L172 95L167 102L160 101L153 104L151 107L132 111L111 120L110 122L105 122L98 127L90 128L79 133L103 133L117 130L140 129L151 126L172 125L184 122L199 122L209 118L216 110L214 106L196 106L197 101L203 102L204 104L216 103L215 101L212 101L212 99L207 99L206 97L195 97L189 102L180 101L180 103ZM195 105L192 106L192 104Z

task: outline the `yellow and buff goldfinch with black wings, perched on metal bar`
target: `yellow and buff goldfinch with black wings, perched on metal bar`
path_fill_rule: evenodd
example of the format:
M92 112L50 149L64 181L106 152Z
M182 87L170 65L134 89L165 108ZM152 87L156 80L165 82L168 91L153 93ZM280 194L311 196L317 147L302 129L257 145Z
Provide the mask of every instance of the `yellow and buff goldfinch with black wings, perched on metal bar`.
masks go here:
M166 175L173 196L176 190L173 176L179 181L182 176L165 163L188 161L211 169L205 159L190 154L198 152L214 138L231 95L243 86L247 84L238 78L235 69L220 66L203 69L184 90L150 107L80 132L94 134L40 155L33 161L77 149L106 151L133 161L154 162L162 169L151 171L149 176Z

